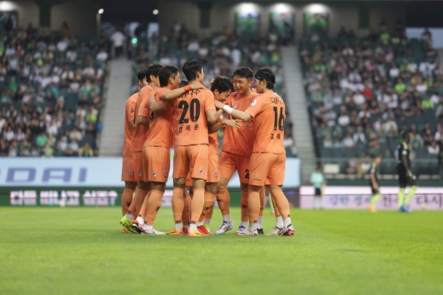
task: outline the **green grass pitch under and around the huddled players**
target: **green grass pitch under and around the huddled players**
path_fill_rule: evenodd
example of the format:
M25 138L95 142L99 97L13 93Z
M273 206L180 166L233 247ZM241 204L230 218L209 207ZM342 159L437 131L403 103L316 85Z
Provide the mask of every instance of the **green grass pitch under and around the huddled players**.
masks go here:
M201 238L123 234L120 213L0 207L0 294L443 294L443 212L293 209L293 237Z

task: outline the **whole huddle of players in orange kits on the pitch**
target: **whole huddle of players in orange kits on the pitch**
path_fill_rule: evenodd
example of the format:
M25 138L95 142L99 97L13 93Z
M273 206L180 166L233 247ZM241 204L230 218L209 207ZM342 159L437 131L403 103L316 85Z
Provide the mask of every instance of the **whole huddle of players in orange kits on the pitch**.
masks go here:
M127 100L122 170L125 191L120 220L123 231L173 236L212 234L210 219L216 199L224 221L215 234L234 229L227 186L238 171L242 221L235 234L264 234L267 187L276 216L269 235L292 236L289 203L282 193L285 106L273 92L275 74L270 68L260 68L253 75L250 68L240 67L231 79L213 78L208 89L203 85L201 61L186 62L182 71L188 82L181 81L177 66L147 66L138 72L141 91ZM227 119L223 113L228 113ZM219 156L217 131L221 128L225 130ZM170 173L171 148L175 227L163 233L153 225Z

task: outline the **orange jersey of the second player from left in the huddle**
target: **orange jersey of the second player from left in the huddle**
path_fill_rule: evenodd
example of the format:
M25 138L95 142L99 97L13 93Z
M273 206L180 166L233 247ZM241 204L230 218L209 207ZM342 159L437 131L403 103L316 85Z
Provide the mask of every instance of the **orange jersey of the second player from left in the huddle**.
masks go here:
M137 117L150 117L150 92L152 88L150 86L145 86L138 92L136 110L134 115L134 133L132 135L131 151L143 151L143 144L146 140L147 127L137 124Z

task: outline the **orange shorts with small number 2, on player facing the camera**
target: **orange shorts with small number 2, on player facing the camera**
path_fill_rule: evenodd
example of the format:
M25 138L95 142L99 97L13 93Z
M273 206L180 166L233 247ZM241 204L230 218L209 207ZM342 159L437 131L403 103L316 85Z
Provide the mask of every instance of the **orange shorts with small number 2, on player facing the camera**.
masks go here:
M222 178L232 178L235 170L238 171L240 182L248 183L249 179L249 159L247 155L237 155L227 151L221 151L220 174Z

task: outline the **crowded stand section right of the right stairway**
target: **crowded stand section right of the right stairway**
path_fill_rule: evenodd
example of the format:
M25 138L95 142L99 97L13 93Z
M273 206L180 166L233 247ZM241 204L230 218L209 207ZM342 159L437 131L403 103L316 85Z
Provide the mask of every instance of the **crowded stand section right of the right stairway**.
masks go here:
M443 158L437 52L430 39L399 36L372 31L364 38L300 41L317 154L353 157L345 164L348 173L366 173L374 155L397 158L404 132L411 135L411 159Z

